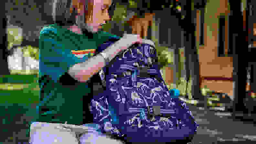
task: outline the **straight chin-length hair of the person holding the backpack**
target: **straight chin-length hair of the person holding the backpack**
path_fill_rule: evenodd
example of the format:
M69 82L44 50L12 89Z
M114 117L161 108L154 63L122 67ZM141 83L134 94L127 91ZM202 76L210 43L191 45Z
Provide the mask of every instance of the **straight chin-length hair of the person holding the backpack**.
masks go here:
M83 2L81 2L83 1ZM77 9L81 3L85 6L86 20L92 20L93 0L54 0L52 16L54 23L62 26L75 24Z

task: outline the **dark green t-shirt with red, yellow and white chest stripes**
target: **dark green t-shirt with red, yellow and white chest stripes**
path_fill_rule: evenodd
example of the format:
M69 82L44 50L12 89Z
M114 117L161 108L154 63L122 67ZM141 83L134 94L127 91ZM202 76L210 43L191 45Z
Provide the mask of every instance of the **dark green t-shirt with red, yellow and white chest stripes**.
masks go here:
M39 86L40 102L35 121L81 125L85 98L91 89L67 74L69 67L91 57L97 46L110 37L118 36L100 31L88 37L76 34L56 24L45 26L39 37Z

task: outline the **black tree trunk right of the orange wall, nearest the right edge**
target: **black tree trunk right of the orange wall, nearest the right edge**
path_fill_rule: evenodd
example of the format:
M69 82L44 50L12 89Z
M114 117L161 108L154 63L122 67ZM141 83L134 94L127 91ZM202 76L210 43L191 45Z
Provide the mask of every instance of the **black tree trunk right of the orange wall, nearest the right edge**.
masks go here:
M234 79L234 101L233 101L233 116L236 114L247 113L247 109L244 107L243 99L246 96L246 67L248 66L248 42L245 41L243 35L243 21L240 9L240 2L232 1L230 2L230 9L232 11L230 23L236 23L236 29L230 30L231 36L234 36L232 41L234 49L233 57L233 79ZM235 118L235 117L234 117Z

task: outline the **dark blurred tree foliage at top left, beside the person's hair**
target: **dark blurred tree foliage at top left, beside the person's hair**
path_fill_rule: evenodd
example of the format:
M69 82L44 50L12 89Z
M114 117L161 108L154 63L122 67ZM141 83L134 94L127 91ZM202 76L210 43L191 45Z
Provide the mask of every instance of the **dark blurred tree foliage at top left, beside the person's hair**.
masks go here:
M10 25L22 28L28 41L39 37L42 26L53 23L52 0L6 0L5 12Z

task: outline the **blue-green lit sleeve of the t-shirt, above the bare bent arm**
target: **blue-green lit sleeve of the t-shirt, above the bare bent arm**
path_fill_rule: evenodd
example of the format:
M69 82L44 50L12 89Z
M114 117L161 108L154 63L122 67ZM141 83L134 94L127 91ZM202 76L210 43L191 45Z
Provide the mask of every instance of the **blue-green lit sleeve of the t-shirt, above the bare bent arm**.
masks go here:
M68 39L67 39L68 40ZM54 29L44 29L39 37L39 75L48 75L57 82L61 76L67 75L69 67L85 61L87 57L78 59L70 49L63 46Z

